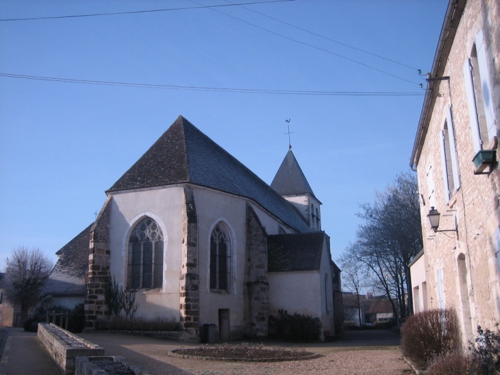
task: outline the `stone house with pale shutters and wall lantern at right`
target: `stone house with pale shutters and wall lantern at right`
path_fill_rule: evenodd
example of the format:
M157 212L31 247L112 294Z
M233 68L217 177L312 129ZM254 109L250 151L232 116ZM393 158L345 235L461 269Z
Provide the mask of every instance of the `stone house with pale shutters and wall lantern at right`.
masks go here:
M410 162L424 244L414 310L455 309L464 341L500 321L499 57L500 2L449 1Z

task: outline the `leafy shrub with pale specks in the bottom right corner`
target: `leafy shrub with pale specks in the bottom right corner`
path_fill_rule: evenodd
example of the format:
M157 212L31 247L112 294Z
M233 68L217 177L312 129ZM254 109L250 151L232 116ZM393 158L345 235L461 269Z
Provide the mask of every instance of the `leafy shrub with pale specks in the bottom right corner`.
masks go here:
M473 374L492 375L500 374L500 330L482 330L477 326L475 343L469 341L469 350L473 357Z

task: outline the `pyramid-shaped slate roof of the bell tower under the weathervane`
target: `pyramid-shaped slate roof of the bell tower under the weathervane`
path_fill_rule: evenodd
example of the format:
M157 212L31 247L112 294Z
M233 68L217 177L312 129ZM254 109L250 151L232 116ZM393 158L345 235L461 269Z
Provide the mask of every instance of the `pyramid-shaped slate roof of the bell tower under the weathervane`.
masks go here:
M302 172L299 162L289 149L279 167L271 187L280 195L297 195L309 193L314 197L311 186Z

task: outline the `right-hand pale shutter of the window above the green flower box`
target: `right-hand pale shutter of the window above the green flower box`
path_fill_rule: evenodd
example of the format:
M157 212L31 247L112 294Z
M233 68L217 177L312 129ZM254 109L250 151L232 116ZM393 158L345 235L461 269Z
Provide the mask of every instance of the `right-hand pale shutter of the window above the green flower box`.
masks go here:
M486 58L486 48L484 45L483 31L479 31L476 36L477 64L479 65L479 77L481 77L481 89L483 93L484 115L488 136L493 138L497 135L495 126L495 112L493 109L493 99L491 96L490 73L488 71L488 59Z

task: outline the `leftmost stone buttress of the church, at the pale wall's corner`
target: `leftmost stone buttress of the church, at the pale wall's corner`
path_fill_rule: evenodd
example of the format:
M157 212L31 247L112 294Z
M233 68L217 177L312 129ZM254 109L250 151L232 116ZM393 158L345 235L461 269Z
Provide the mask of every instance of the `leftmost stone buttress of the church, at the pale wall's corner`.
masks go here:
M110 280L110 210L108 197L99 216L90 228L87 294L85 296L85 327L95 328L95 322L108 311L105 289Z

